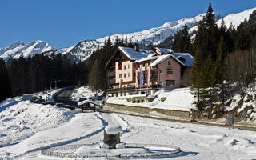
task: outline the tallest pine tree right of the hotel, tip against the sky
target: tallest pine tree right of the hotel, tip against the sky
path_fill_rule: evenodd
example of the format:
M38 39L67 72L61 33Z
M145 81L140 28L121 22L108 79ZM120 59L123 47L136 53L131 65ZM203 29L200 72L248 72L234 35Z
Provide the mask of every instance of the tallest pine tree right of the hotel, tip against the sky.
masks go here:
M216 83L214 82L214 62L216 61L216 46L218 42L218 27L214 20L211 4L206 18L199 22L194 46L196 53L191 72L191 91L196 98L194 102L198 110L213 106L216 102Z

